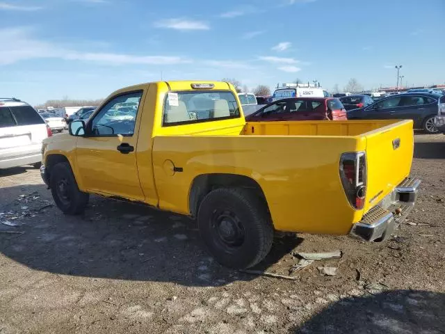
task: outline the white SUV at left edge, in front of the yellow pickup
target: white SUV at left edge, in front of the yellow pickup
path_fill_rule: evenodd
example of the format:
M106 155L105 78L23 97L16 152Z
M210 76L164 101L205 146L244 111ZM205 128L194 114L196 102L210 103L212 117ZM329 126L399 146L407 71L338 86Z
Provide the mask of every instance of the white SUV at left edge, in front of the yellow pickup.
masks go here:
M0 98L0 168L42 161L42 141L51 129L29 104L15 98Z

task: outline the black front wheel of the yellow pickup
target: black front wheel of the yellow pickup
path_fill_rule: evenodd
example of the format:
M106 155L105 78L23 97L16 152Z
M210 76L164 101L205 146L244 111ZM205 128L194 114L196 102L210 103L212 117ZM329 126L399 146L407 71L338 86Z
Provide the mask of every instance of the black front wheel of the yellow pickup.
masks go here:
M81 214L90 196L77 186L70 164L61 162L51 168L49 180L54 202L64 214Z

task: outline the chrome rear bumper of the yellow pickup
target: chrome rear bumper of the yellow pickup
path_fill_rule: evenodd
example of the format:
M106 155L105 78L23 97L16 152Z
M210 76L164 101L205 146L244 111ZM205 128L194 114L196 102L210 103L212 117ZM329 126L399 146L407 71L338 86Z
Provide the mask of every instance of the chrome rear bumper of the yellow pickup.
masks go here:
M351 234L366 241L382 241L391 237L398 225L414 207L421 180L408 177L392 193L355 223Z

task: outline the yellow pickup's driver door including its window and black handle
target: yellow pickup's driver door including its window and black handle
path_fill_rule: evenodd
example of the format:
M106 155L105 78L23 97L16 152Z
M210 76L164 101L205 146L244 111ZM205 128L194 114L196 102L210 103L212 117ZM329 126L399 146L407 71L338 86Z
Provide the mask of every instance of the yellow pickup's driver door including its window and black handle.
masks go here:
M88 191L144 200L136 164L139 104L143 91L123 93L99 109L76 143L81 183ZM133 110L122 106L133 102ZM148 140L148 139L147 139Z

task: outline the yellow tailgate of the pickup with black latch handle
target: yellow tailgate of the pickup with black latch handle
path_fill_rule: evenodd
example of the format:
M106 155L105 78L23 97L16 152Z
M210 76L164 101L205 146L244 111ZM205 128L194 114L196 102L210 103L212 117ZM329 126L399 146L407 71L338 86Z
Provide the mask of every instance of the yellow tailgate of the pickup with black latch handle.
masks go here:
M414 151L412 120L396 122L364 135L368 168L364 212L367 212L410 175Z

